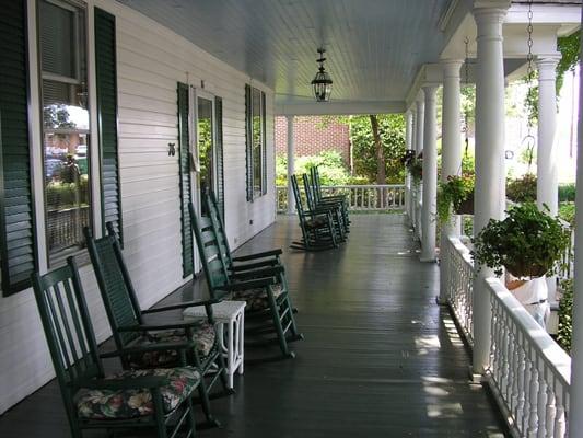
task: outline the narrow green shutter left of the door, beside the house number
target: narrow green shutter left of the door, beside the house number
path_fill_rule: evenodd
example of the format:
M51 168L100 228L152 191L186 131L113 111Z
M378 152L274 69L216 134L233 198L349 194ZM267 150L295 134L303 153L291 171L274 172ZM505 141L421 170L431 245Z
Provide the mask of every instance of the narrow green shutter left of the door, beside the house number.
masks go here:
M183 234L183 277L195 270L190 230L190 151L188 148L188 85L178 82L178 164L180 168L180 226Z

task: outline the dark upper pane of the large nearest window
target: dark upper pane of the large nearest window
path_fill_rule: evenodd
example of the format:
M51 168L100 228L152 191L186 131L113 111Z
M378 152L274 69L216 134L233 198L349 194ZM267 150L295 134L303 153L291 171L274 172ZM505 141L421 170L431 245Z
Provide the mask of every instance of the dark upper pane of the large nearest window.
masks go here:
M74 12L40 1L39 13L43 71L77 78Z

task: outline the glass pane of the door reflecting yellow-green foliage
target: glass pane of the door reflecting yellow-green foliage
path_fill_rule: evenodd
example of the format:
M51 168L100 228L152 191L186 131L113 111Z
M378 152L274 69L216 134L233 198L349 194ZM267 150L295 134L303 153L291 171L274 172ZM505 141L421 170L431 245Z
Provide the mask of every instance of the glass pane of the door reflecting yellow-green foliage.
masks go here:
M214 191L214 149L212 145L212 102L208 99L198 99L198 157L200 160L200 191L205 194L207 188ZM202 207L205 205L202 204ZM205 214L205 211L202 211Z

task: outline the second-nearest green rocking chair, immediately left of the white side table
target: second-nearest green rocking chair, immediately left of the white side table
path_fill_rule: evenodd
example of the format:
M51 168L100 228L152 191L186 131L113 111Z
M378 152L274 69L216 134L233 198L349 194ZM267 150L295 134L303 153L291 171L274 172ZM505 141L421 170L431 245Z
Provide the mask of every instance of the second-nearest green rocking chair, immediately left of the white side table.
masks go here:
M124 262L114 227L108 222L106 228L108 234L102 239L93 239L89 228L85 228L83 232L116 347L123 349L177 341L194 342L195 348L187 351L187 362L199 369L205 377L198 389L206 416L206 423L200 426L219 426L219 422L211 414L209 392L219 378L223 394L232 394L234 391L228 387L224 357L221 354L220 339L217 336L212 316L211 304L217 301L188 301L142 310ZM144 321L145 314L202 306L207 311L207 319L202 321L180 320L164 324L148 324ZM121 357L124 369L174 367L176 360L176 351L173 350L156 350Z

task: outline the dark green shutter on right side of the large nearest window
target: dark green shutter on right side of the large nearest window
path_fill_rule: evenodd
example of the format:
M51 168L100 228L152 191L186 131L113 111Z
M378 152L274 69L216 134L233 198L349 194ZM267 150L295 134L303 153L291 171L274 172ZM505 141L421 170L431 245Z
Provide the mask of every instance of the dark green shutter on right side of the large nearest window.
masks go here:
M115 16L95 8L97 129L101 152L102 220L113 222L123 241L121 192L117 141L117 64Z

